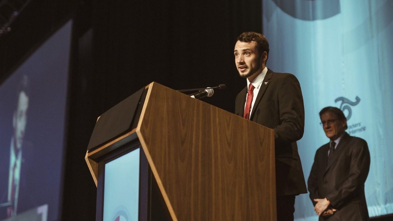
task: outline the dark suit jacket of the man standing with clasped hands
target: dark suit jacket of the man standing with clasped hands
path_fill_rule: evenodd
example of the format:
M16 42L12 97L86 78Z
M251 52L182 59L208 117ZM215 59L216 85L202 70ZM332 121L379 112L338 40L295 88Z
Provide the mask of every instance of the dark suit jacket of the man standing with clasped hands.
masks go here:
M370 168L370 153L362 138L345 133L333 156L326 165L329 143L315 154L308 180L310 199L327 197L337 211L329 218L320 220L369 220L364 195L364 182Z

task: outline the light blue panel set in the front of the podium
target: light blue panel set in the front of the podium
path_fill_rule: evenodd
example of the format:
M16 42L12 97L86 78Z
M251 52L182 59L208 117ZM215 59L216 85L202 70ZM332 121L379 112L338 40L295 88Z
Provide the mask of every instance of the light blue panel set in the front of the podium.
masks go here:
M138 221L140 148L105 164L103 221Z

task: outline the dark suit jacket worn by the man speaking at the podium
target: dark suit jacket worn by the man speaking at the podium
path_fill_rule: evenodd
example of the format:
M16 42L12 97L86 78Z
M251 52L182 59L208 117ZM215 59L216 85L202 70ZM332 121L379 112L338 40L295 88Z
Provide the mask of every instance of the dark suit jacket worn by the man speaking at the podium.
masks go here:
M244 114L246 95L247 87L236 97L235 114L239 116ZM296 145L304 131L303 96L298 79L268 69L250 120L274 129L277 195L307 193Z

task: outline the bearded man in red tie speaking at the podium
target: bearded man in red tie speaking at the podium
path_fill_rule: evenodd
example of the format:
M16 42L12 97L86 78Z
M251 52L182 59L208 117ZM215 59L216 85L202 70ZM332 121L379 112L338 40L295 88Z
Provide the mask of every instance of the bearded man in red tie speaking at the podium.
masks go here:
M304 131L300 84L292 74L266 68L269 43L264 35L244 32L237 40L235 64L247 87L236 97L235 114L274 129L277 220L294 220L295 195L307 193L296 145Z

